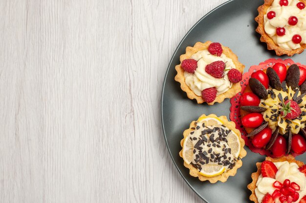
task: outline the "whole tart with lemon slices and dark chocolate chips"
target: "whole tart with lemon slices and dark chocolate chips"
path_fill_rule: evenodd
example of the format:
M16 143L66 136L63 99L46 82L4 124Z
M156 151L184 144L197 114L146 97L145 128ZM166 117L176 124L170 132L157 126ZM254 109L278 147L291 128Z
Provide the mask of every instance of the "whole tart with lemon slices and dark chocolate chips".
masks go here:
M190 175L200 181L225 182L242 166L244 141L234 122L225 116L201 115L183 133L179 155Z

